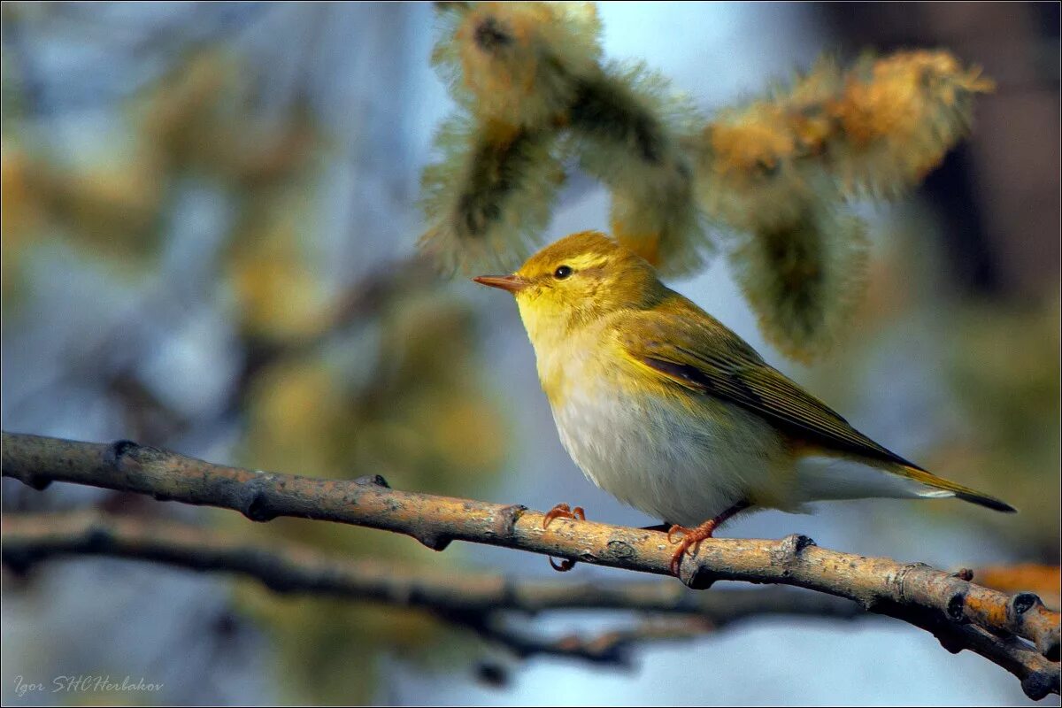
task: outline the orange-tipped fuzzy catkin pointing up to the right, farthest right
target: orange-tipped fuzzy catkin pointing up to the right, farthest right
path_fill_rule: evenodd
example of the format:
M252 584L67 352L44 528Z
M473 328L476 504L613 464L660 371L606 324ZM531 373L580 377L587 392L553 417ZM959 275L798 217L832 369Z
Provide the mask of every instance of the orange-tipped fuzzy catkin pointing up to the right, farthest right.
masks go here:
M817 201L894 197L969 133L973 98L991 89L978 68L963 68L947 52L864 56L847 72L824 57L790 87L705 125L698 141L702 204L734 226L753 227L790 219L809 185Z

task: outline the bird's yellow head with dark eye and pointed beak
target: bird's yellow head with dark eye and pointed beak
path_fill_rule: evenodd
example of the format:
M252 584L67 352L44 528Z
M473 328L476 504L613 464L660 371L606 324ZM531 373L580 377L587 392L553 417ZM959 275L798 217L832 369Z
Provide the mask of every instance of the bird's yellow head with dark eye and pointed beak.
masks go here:
M665 291L652 265L600 231L567 236L512 275L473 279L516 296L532 342L618 310L649 307Z

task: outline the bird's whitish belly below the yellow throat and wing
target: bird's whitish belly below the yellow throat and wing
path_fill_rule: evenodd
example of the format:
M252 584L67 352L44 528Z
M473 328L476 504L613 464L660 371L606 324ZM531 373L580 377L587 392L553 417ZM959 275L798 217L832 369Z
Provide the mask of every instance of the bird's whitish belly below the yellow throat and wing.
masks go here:
M749 499L774 496L789 461L769 424L705 399L692 417L678 399L653 399L580 386L553 409L561 441L596 485L661 521L697 525ZM716 422L693 422L695 420Z

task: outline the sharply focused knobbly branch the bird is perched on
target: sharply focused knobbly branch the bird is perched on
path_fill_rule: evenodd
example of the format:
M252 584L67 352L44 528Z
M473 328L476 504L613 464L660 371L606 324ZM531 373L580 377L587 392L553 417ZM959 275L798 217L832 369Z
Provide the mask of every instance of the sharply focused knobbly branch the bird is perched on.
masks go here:
M294 516L383 529L435 550L467 540L661 575L669 574L672 552L658 532L561 519L544 529L543 514L519 505L398 491L378 476L348 482L226 467L129 441L3 433L3 474L36 488L64 481L232 508L254 521ZM990 590L924 564L820 549L798 535L705 541L683 562L681 580L695 589L730 580L847 598L931 632L949 651L984 656L1034 700L1059 693L1059 614L1032 593Z

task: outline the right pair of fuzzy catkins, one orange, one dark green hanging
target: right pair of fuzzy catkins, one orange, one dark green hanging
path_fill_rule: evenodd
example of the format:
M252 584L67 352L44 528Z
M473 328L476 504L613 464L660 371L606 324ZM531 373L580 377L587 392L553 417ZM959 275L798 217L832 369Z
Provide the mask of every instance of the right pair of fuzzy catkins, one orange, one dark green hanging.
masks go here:
M808 360L837 340L866 257L849 202L917 185L969 132L987 90L947 52L864 56L846 72L824 57L704 126L698 197L741 235L731 263L775 347Z

